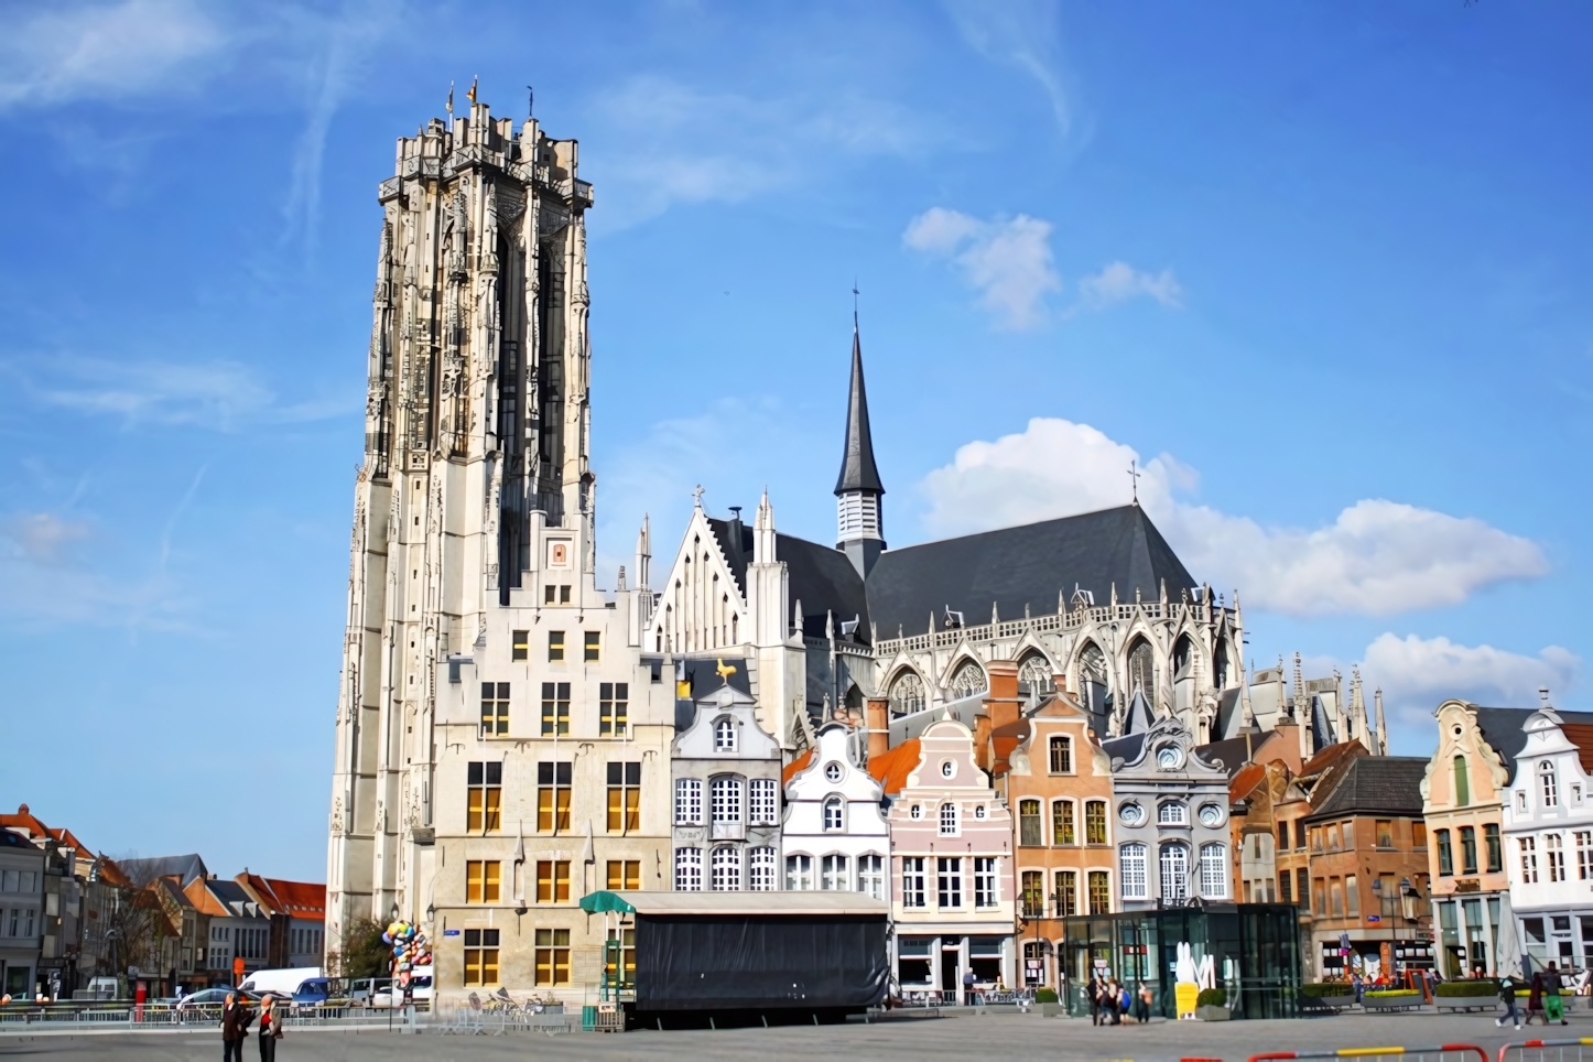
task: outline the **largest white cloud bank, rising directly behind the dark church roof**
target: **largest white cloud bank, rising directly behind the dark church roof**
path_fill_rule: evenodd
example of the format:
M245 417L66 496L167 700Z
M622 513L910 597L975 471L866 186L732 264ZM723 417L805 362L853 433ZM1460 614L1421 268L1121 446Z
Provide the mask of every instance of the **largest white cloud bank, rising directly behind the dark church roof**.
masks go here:
M921 484L926 524L961 533L1125 505L1137 460L1090 425L1035 417L930 471ZM1392 615L1548 572L1536 543L1475 517L1367 498L1325 527L1263 527L1174 497L1196 482L1193 470L1160 455L1142 465L1139 498L1192 575L1238 588L1246 605L1266 611Z

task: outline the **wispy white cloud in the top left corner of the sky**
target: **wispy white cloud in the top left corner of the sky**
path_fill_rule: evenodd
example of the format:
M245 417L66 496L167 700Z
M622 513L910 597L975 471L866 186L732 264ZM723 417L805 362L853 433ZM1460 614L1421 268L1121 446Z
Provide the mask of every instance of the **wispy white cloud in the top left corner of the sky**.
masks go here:
M0 108L145 96L180 86L226 45L188 0L10 5L0 18Z

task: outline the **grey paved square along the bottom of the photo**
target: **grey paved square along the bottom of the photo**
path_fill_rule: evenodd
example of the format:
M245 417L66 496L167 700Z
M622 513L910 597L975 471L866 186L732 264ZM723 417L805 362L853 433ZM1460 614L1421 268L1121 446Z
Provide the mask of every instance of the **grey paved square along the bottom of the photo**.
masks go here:
M386 1032L295 1030L277 1049L279 1062L376 1062L395 1054L436 1062L497 1062L503 1059L1115 1059L1155 1062L1200 1057L1244 1062L1268 1051L1308 1051L1405 1044L1472 1043L1497 1057L1507 1040L1593 1035L1593 1014L1572 1014L1569 1027L1534 1025L1515 1033L1494 1027L1488 1014L1340 1014L1271 1022L1166 1022L1093 1027L1082 1019L1045 1019L1037 1014L959 1014L941 1019L890 1021L873 1025L790 1025L718 1032L629 1032L623 1035L567 1033L548 1037L400 1037ZM215 1062L221 1044L205 1033L107 1033L0 1037L0 1059L70 1062ZM253 1062L256 1044L245 1046ZM1437 1062L1437 1056L1427 1056ZM1445 1062L1478 1062L1475 1056L1446 1056ZM1512 1056L1510 1062L1520 1062ZM1528 1060L1531 1062L1531 1060ZM1593 1062L1593 1048L1572 1048L1550 1062Z

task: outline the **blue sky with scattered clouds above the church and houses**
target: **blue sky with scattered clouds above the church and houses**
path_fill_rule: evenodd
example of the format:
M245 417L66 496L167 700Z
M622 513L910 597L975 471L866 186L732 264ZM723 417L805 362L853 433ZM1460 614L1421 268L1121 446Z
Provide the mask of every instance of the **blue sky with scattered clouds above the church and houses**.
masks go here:
M1446 696L1587 707L1588 22L6 6L0 804L320 880L376 183L476 75L597 189L602 584L698 482L833 535L855 279L892 543L1139 460L1247 654L1360 662L1397 752Z

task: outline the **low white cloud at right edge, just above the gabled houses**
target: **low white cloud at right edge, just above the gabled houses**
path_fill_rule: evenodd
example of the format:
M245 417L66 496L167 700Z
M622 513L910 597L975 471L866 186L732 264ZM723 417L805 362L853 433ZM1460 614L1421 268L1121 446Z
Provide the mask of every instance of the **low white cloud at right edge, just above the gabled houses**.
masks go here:
M1445 637L1381 634L1367 646L1362 672L1368 688L1383 688L1386 709L1400 710L1413 723L1431 724L1432 709L1450 697L1534 707L1537 689L1548 686L1553 701L1575 686L1582 659L1558 645L1525 656L1491 645L1459 645Z

